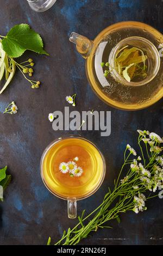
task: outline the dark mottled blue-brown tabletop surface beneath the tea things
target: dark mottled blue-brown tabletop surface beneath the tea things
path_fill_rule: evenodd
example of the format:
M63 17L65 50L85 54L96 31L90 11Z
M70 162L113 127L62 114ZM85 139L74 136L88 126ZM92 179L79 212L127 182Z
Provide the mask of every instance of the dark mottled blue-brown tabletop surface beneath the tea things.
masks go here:
M111 111L111 135L101 137L98 131L80 134L96 142L106 159L106 177L92 197L78 202L78 213L89 213L101 202L108 186L121 167L126 144L136 144L136 130L148 129L162 135L162 101L137 112L125 112L100 101L86 80L85 61L68 41L71 32L90 39L105 27L119 21L135 20L148 23L163 32L161 0L57 0L45 13L35 13L22 0L0 0L1 35L18 23L28 23L40 33L50 57L26 53L21 58L34 58L35 77L40 89L30 89L17 72L7 90L0 96L0 111L12 100L18 113L0 113L0 163L9 167L12 182L0 205L0 243L43 245L48 236L57 241L62 231L76 221L67 218L67 202L49 193L40 177L40 158L53 139L68 134L55 132L48 113L64 111L66 95L77 93L78 111L96 109ZM73 107L70 110L74 110ZM75 132L76 133L76 132ZM114 229L98 230L82 244L142 245L163 242L163 202L159 198L147 203L148 210L138 215L123 214Z

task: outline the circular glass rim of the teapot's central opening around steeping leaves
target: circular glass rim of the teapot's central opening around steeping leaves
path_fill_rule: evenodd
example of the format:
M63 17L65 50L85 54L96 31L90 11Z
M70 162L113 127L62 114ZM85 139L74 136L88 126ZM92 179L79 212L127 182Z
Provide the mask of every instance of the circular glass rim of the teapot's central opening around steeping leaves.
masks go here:
M116 52L121 48L121 46L128 41L131 40L139 40L139 41L143 41L145 42L149 47L151 47L154 55L155 55L155 66L154 66L154 71L153 74L149 75L147 78L145 78L142 81L139 82L128 82L126 81L120 74L118 74L117 70L114 68L113 70L111 70L111 74L113 77L115 77L115 79L117 79L118 81L120 81L121 83L123 83L126 86L143 86L149 82L151 82L154 77L158 74L159 69L160 69L160 56L159 56L159 52L157 50L157 48L155 47L155 45L149 41L146 38L143 38L141 36L129 36L128 38L122 39L120 42L118 42L118 44L112 49L110 56L109 56L109 63L111 63L111 66L115 67L115 56L116 56Z

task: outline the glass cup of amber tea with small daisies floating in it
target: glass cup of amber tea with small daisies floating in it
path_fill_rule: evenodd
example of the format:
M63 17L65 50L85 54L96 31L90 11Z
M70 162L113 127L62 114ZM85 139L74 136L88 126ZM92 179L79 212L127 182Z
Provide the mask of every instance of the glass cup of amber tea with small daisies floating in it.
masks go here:
M74 166L73 166L74 165ZM70 169L62 170L64 166ZM55 139L42 154L41 177L47 189L67 200L68 217L77 217L77 200L95 193L105 177L105 159L96 145L80 136Z

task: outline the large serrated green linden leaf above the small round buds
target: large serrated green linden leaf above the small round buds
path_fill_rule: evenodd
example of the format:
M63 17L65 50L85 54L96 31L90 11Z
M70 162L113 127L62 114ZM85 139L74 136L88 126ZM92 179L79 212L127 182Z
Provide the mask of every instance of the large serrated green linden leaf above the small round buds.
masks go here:
M2 40L2 47L8 56L13 58L20 57L26 50L48 55L43 50L41 36L27 24L12 27Z

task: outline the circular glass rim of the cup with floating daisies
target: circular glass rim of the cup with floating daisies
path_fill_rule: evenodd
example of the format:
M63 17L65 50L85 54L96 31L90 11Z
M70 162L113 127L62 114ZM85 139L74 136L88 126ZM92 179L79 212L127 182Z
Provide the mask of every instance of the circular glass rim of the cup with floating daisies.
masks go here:
M68 139L68 138L79 138L79 139L83 139L84 141L87 141L89 142L90 144L93 145L93 147L95 147L99 154L101 155L101 158L102 158L102 162L103 162L103 173L102 173L102 177L101 177L101 180L99 180L99 183L98 185L95 187L95 189L93 191L91 191L89 194L87 194L86 196L82 196L82 197L62 197L60 194L57 194L56 192L54 193L49 187L48 185L46 184L46 181L44 180L43 178L43 160L45 159L45 156L46 156L46 153L48 152L49 149L51 149L53 147L54 144L57 144L58 142L60 142L62 139ZM54 139L54 141L52 141L51 143L49 143L47 145L47 147L45 148L45 150L43 151L42 153L42 156L41 156L41 160L40 160L40 173L41 173L41 178L42 178L42 181L43 181L43 184L46 186L46 188L48 189L49 192L51 192L54 196L60 198L60 199L64 199L64 200L82 200L82 199L85 199L87 197L90 197L92 196L92 194L94 194L99 187L101 187L103 181L104 181L104 178L105 178L105 173L106 173L106 162L105 162L105 158L101 152L101 150L99 150L99 148L97 147L97 145L94 143L94 142L91 142L89 141L89 139L86 139L84 138L82 135L65 135L65 136L62 136L62 137L59 137L57 139Z

